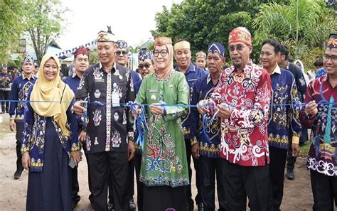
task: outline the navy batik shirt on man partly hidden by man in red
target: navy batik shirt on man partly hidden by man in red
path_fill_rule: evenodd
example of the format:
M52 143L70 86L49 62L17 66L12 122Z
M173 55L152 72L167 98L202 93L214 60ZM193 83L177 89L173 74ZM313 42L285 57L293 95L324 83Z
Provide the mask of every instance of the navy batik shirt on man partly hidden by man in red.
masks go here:
M217 84L218 85L218 82ZM200 77L193 85L191 104L197 104L200 100L210 99L216 85L213 85L210 75ZM191 136L200 144L200 156L218 158L220 156L220 127L221 119L215 117L213 124L207 124L203 131L203 117L200 116L196 107L191 107ZM206 117L210 122L209 115Z

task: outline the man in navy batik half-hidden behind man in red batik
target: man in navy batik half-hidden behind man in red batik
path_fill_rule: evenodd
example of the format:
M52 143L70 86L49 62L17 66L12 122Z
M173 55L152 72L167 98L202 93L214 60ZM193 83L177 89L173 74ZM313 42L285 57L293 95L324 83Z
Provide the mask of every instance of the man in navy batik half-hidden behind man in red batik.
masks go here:
M210 74L200 77L194 83L191 104L197 104L203 99L210 99L213 90L218 85L221 67L225 63L224 56L225 47L223 45L217 42L208 45L206 63ZM204 114L202 109L191 108L191 121L194 122L194 124L191 124L191 136L195 143L192 146L192 154L194 158L199 160L204 210L215 210L216 175L219 210L224 211L225 186L221 177L223 172L220 163L221 119L215 117L213 124L207 124L205 121L211 123L212 114L206 114L206 116Z

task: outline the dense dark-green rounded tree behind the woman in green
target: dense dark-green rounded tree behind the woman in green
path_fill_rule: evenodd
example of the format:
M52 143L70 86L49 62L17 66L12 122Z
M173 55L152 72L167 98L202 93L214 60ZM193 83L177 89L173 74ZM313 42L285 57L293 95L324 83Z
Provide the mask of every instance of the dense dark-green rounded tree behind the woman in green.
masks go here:
M173 4L171 11L164 6L163 11L156 13L156 29L151 33L153 36L169 36L173 42L186 39L194 52L207 50L211 41L227 45L232 28L245 26L251 33L254 32L252 20L264 2L269 0L182 1L181 4ZM283 4L287 1L277 2Z

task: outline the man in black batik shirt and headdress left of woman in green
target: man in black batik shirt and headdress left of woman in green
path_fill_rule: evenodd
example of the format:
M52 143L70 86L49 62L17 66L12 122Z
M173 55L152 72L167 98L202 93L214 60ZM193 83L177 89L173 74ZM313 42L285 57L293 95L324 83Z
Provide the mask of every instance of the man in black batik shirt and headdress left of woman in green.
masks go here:
M78 87L74 112L87 111L85 148L92 185L92 208L107 211L107 184L112 183L115 210L128 210L128 160L134 157L134 119L125 104L134 101L129 70L114 61L114 35L100 31L97 55ZM87 109L84 100L90 102Z

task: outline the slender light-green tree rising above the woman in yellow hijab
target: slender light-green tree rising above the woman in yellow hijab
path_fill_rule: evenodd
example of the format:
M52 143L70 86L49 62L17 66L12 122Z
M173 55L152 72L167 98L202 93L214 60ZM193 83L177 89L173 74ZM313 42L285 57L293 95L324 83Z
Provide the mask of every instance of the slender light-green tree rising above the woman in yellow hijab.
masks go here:
M23 16L25 31L31 38L38 63L46 54L48 44L62 31L63 14L68 11L60 0L26 0Z

